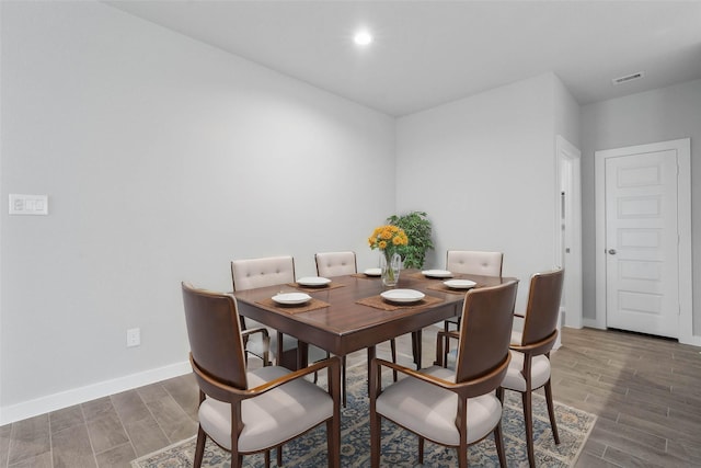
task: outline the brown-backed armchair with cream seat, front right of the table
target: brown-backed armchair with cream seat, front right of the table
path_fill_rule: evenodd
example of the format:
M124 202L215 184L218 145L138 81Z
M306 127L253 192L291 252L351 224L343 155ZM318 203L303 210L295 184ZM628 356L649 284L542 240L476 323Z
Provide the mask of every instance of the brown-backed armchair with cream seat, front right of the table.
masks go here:
M502 402L496 398L510 361L516 281L467 293L462 309L456 370L433 366L413 370L374 358L370 369L371 466L380 466L381 418L418 435L418 463L424 440L458 449L458 464L468 466L468 445L494 433L502 467ZM406 377L382 389L381 368Z

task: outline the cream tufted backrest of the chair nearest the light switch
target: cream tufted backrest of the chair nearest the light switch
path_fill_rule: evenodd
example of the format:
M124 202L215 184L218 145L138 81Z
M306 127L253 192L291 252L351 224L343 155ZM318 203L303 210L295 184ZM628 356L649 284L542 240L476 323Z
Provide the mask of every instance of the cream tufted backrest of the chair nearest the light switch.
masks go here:
M231 262L233 290L295 283L295 259L289 255Z

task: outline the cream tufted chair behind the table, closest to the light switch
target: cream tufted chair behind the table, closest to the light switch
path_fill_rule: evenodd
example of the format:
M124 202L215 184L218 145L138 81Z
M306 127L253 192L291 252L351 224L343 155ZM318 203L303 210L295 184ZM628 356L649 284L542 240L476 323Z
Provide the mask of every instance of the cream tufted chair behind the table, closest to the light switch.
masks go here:
M231 262L231 279L233 290L246 290L256 287L273 286L277 284L295 283L295 259L290 255L266 256L260 259L233 260ZM297 340L284 335L251 319L241 317L242 328L266 328L269 334L269 347L275 352L275 362L281 365L286 351L297 349ZM264 343L261 340L249 340L245 350L257 356L264 352ZM327 357L327 353L317 346L309 346L310 361L319 361Z

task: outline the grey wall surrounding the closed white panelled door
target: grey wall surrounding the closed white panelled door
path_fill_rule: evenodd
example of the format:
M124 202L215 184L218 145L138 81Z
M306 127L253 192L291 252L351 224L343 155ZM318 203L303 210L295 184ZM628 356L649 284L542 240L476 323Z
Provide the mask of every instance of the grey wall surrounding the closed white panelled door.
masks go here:
M691 138L693 334L701 335L701 80L582 107L584 317L596 318L595 151L678 138Z

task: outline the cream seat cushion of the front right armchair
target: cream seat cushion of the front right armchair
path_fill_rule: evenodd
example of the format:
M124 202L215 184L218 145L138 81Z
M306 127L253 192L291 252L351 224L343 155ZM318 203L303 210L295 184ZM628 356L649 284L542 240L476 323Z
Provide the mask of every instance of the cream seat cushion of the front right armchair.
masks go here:
M433 366L422 370L455 381L451 369ZM439 444L458 446L458 396L416 378L390 385L377 399L377 412L399 425ZM502 419L502 403L494 392L468 399L468 444L480 441Z

